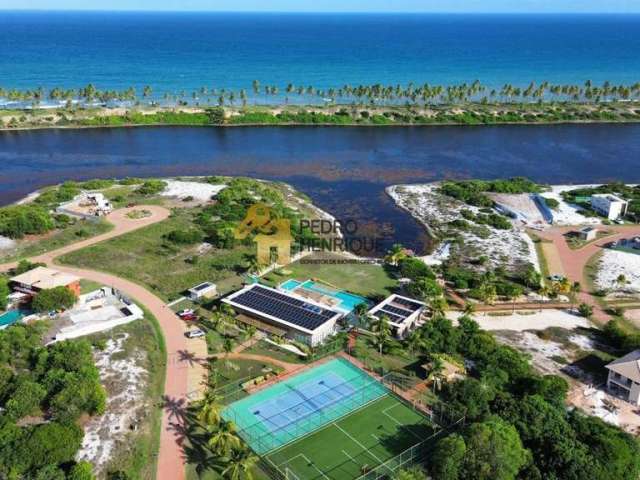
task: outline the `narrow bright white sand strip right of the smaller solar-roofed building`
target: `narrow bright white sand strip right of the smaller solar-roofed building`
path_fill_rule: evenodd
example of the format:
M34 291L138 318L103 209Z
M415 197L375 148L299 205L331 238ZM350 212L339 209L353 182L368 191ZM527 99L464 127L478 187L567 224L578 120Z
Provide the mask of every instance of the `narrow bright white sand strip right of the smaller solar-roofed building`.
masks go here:
M508 307L507 307L508 308ZM447 317L457 320L462 315L461 312L448 312ZM492 317L482 313L475 314L473 319L484 330L513 330L522 332L524 330L545 330L549 327L561 327L573 330L577 327L590 327L589 321L584 317L573 315L564 310L543 310L529 315L513 313L511 315L501 315Z

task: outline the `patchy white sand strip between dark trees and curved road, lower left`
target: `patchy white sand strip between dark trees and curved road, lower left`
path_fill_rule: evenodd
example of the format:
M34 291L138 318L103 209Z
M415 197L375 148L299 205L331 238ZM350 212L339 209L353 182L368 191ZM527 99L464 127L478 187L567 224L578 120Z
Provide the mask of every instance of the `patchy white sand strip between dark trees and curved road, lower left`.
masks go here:
M130 357L114 360L114 354L124 351L128 334L107 341L103 351L96 351L96 366L100 380L107 389L104 415L93 417L85 425L82 446L77 460L86 460L100 472L109 462L117 444L124 440L137 423L144 409L141 399L147 383L147 371L139 366L144 353L134 352Z

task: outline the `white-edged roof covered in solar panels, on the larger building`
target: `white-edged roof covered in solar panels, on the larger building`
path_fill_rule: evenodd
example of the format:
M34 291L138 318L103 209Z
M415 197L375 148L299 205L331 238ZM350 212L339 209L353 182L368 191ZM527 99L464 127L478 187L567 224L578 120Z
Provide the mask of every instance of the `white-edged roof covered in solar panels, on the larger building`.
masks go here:
M224 298L223 302L275 321L282 325L313 333L342 313L326 308L308 298L254 283Z

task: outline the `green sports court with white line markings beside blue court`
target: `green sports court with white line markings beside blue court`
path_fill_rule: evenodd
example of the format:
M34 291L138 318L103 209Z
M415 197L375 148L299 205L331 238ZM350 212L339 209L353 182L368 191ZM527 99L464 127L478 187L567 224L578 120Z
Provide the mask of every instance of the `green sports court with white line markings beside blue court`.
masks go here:
M433 424L392 394L267 456L289 478L350 480L430 437ZM388 470L387 467L383 467ZM390 472L387 472L390 473Z

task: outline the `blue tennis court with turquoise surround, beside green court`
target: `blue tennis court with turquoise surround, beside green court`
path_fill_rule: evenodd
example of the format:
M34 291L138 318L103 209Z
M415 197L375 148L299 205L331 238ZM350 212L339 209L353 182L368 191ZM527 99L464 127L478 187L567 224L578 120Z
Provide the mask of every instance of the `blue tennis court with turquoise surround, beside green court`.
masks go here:
M223 412L260 454L332 422L388 393L377 380L335 359L232 403Z

